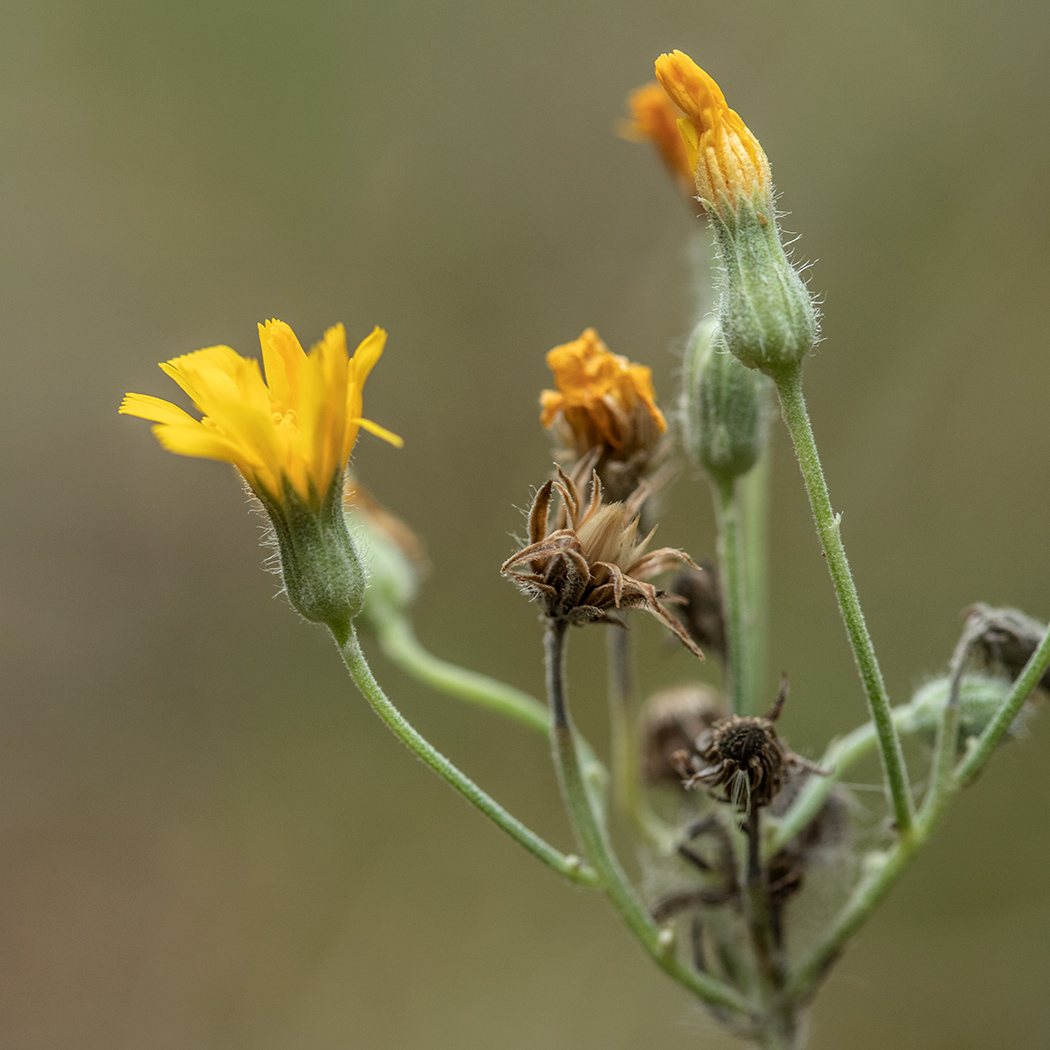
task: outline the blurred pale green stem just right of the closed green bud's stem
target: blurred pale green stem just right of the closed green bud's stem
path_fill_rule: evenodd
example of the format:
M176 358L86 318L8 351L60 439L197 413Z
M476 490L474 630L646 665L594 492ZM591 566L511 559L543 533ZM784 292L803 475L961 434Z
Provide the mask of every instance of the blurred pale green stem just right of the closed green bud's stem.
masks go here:
M754 690L751 709L756 714L762 708L770 637L769 561L772 477L773 446L765 441L758 462L740 479L744 594L748 609L747 662L751 669L751 687Z

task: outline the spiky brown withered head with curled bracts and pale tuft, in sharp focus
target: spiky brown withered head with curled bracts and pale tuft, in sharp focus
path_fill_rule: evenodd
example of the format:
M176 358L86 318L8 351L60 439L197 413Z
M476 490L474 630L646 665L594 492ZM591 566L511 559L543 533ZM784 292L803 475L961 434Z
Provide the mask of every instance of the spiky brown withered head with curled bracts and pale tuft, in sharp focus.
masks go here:
M555 491L561 506L555 527L548 531ZM602 482L595 474L585 506L576 484L559 467L558 479L548 481L532 501L528 546L508 558L500 571L539 601L552 620L623 627L622 610L645 609L704 659L696 643L660 605L667 594L648 582L674 565L693 562L671 547L646 549L652 532L642 540L637 534L638 511L646 495L642 489L626 504L604 503Z

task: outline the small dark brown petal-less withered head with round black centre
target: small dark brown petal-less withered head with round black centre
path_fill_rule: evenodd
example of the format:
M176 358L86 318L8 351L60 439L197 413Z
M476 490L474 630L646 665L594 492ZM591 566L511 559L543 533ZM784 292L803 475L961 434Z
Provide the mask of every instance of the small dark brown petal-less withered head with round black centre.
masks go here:
M730 715L701 733L692 752L679 751L675 764L687 788L706 788L720 802L750 812L769 805L792 770L825 775L820 766L789 751L773 723L788 698L788 680L764 718Z

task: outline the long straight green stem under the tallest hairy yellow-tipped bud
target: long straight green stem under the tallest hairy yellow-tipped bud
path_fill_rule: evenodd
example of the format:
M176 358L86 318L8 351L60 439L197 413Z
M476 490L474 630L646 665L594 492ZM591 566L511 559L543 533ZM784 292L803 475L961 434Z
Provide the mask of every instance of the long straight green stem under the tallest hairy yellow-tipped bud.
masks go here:
M839 600L839 609L853 646L854 658L860 671L860 677L867 694L867 706L875 722L879 740L879 753L882 757L883 772L889 792L890 805L897 820L898 833L906 838L914 823L911 790L908 783L907 769L904 764L904 754L901 741L894 726L892 713L889 708L889 697L882 680L882 671L875 655L875 647L864 623L860 598L849 572L849 563L839 534L839 516L832 510L832 501L827 495L827 485L820 466L817 454L817 443L810 424L810 416L805 410L805 399L802 397L802 372L799 365L793 365L773 376L780 397L780 407L784 422L791 432L795 444L795 453L802 470L802 479L810 496L810 506L817 523L817 532L827 559L827 568L832 573L835 592Z

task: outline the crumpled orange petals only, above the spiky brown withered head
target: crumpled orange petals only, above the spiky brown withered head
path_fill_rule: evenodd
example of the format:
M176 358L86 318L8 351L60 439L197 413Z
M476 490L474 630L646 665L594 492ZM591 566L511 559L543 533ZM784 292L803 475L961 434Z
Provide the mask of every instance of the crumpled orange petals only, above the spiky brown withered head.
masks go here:
M660 433L667 429L667 420L656 406L652 372L610 353L594 329L551 350L547 364L558 390L541 394L540 421L550 426L562 413L582 447L607 444L618 448L638 411L648 414Z

